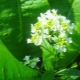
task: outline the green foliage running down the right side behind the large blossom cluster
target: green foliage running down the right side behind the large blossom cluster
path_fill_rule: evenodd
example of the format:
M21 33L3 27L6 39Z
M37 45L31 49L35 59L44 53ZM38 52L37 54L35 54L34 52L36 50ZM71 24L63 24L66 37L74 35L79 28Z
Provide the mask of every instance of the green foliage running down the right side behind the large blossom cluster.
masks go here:
M60 55L60 59L58 59L58 63L56 65L56 68L62 68L69 65L77 56L79 53L79 45L80 45L80 31L79 31L79 23L80 23L80 1L79 0L49 0L49 3L51 5L51 8L58 9L59 14L65 15L68 19L70 19L72 22L77 23L76 27L78 27L77 30L74 33L73 41L74 43L68 46L68 52L65 54Z

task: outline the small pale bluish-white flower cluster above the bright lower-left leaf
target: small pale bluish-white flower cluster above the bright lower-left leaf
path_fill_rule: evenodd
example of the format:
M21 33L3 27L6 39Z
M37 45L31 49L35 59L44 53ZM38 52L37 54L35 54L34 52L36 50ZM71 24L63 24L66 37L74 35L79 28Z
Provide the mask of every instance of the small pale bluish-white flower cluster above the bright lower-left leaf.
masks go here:
M40 61L40 59L38 57L37 58L30 59L30 56L25 56L25 58L23 60L25 60L24 65L28 65L31 68L35 68L37 62Z

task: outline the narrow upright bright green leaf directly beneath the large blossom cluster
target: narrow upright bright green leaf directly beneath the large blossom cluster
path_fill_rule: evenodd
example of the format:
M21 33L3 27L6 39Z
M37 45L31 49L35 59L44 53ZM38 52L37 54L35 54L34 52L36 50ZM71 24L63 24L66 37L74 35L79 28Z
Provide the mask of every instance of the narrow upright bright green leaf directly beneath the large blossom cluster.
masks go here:
M54 64L54 49L53 46L51 46L47 40L43 40L41 49L43 51L42 58L43 58L43 66L45 70L51 71L53 70L53 64Z

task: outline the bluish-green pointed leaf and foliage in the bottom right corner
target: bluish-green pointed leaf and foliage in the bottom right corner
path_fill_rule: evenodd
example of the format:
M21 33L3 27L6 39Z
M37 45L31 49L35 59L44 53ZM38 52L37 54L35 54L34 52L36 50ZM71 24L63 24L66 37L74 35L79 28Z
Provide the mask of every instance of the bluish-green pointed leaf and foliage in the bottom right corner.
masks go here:
M61 76L61 80L79 80L80 78L80 70L72 68L60 70L56 74Z

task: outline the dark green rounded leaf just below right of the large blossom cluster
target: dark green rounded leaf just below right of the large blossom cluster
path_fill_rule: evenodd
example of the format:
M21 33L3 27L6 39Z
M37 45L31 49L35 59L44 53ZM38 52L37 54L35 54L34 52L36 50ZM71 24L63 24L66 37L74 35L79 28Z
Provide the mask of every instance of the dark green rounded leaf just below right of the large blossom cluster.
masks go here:
M79 55L78 49L74 45L70 45L67 48L67 52L60 54L56 63L56 68L65 68L72 63Z

